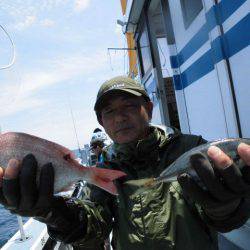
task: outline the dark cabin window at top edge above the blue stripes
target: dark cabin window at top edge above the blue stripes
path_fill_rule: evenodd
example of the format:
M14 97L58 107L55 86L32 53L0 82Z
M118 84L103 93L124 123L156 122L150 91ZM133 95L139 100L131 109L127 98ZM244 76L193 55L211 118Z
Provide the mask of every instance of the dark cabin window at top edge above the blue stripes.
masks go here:
M190 26L202 8L202 0L181 0L181 9L185 29Z

